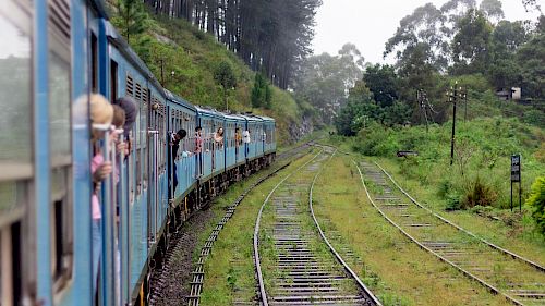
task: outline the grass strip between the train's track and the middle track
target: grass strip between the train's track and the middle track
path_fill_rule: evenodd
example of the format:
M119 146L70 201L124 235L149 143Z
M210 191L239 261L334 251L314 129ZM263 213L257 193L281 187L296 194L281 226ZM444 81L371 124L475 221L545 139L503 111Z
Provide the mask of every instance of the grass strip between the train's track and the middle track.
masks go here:
M253 229L255 218L269 191L287 174L293 171L306 160L311 155L299 158L287 169L270 178L262 185L254 188L246 198L239 205L233 217L225 225L216 241L214 248L205 265L205 283L201 298L201 304L206 305L231 305L234 301L251 302L255 297L256 280L254 277L253 264ZM266 170L266 171L272 171ZM265 175L262 171L257 176ZM219 221L228 207L237 196L250 185L247 180L237 184L229 192L217 200L211 209L215 210L216 221ZM198 257L201 247L209 236L215 224L210 222L206 231L203 231L198 248L195 249L195 260Z

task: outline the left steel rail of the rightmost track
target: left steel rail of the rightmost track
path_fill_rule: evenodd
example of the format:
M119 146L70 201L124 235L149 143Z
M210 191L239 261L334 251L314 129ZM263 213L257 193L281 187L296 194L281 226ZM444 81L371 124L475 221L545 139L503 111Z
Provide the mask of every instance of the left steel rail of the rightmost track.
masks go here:
M447 258L440 256L438 253L434 252L429 247L423 245L416 238L414 238L411 234L409 234L407 231L404 231L393 220L391 220L388 216L386 216L386 213L375 204L375 201L371 197L371 194L370 194L370 192L367 189L367 186L365 184L365 180L363 179L363 173L362 173L360 167L358 166L358 163L354 160L352 160L352 162L355 164L355 168L358 169L358 172L360 173L360 179L361 179L362 185L363 185L363 187L365 189L365 194L367 195L367 198L370 199L370 201L373 205L373 207L380 213L380 216L383 216L390 224L392 224L393 227L396 227L403 235L405 235L407 237L409 237L412 242L414 242L416 245L419 245L422 249L425 249L425 250L432 253L433 255L435 255L439 260L441 260L444 262L447 262L450 266L455 267L456 269L458 269L459 271L461 271L464 276L467 276L471 280L477 281L483 286L485 286L486 289L488 289L488 291L491 291L492 293L502 295L507 301L513 303L514 305L520 305L520 306L524 305L521 302L519 302L518 299L514 299L513 297L511 297L511 296L502 293L501 291L499 291L494 285L487 283L486 281L482 280L481 278L479 278L479 277L474 276L473 273L469 272L468 270L463 269L462 267L460 267L460 266L456 265L455 262L448 260Z

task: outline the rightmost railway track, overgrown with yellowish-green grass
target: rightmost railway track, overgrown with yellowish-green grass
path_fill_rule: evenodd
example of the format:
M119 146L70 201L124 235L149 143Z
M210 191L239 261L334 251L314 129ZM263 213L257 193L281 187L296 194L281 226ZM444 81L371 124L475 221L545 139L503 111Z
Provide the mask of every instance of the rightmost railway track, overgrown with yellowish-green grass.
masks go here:
M422 206L377 163L355 167L372 205L421 248L514 305L545 305L543 266L482 240Z

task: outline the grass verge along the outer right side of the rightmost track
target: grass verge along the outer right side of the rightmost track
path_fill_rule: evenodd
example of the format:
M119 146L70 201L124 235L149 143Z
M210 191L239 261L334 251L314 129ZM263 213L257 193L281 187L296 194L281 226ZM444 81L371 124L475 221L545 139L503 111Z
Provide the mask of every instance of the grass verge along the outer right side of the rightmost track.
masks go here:
M380 158L377 162L420 204L480 237L545 266L545 241L542 235L533 231L533 223L529 220L529 216L523 217L521 222L508 224L505 221L481 217L468 210L444 211L445 200L437 195L435 188L402 175L398 161Z

